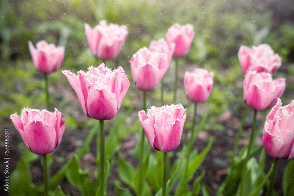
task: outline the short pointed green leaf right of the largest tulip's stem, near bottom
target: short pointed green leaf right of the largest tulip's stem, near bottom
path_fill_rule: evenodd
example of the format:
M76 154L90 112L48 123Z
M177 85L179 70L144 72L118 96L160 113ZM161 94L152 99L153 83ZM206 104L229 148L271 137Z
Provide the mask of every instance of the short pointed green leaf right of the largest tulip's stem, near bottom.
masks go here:
M118 164L118 176L124 183L131 186L133 177L136 173L135 168L126 160L123 160L121 155L118 155L117 164Z

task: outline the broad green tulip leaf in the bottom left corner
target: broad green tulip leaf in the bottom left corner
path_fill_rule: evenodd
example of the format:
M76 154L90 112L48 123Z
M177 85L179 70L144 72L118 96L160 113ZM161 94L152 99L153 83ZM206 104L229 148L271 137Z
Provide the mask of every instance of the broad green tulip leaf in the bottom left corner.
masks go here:
M9 163L9 160L7 161ZM36 192L37 189L35 185L40 183L41 181L39 180L36 181L36 183L34 184L32 183L29 163L23 157L19 158L16 168L7 179L9 180L9 187L5 187L6 181L4 180L4 189L9 188L8 193L10 196L24 194L35 196L40 194Z

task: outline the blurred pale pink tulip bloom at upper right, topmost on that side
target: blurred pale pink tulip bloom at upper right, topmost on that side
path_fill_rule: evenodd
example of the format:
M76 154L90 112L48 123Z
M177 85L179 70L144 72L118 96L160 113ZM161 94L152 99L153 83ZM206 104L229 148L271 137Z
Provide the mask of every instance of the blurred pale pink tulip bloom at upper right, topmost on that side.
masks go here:
M250 70L273 73L282 64L281 57L275 54L268 44L252 48L242 45L238 51L238 59L244 75Z

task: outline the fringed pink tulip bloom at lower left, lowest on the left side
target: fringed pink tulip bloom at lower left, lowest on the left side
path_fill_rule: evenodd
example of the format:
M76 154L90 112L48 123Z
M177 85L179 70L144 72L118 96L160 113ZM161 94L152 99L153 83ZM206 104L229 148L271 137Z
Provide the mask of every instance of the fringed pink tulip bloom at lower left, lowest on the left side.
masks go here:
M64 130L65 119L56 108L54 112L31 109L29 107L10 115L10 118L21 135L26 148L37 155L45 155L60 144Z

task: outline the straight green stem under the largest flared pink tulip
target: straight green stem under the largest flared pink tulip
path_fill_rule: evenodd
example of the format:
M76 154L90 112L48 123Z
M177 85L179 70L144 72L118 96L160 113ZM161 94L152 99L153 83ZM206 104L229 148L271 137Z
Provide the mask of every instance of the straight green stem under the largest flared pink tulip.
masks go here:
M104 121L99 120L100 123L100 195L104 195Z

